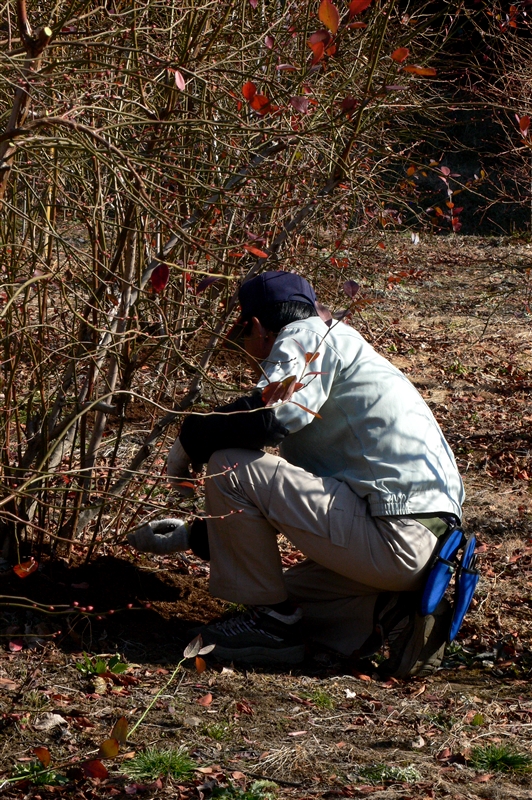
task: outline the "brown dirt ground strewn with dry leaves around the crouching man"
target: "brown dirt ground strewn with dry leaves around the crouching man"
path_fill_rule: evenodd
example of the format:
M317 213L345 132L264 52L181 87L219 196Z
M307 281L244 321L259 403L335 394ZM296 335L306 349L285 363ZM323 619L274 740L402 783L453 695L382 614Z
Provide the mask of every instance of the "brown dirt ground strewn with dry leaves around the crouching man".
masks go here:
M532 245L472 237L383 244L346 253L347 266L329 267L323 284L318 271L315 282L336 310L349 304L343 282L359 282L352 324L418 387L464 477L482 579L443 668L382 682L371 665L360 672L331 653L309 651L289 672L207 656L204 671L189 659L166 685L194 626L228 610L208 595L208 565L115 547L86 566L55 562L24 582L6 572L6 797L246 800L260 796L250 787L265 778L277 787L268 792L294 800L532 798L532 773L476 770L472 760L489 744L532 756ZM297 557L286 543L283 557L287 565ZM22 610L19 596L54 610ZM76 667L83 652L106 664L119 653L127 670L86 675ZM152 701L118 756L105 757L100 748L117 720L131 730ZM184 747L193 777L127 777L132 754L150 746ZM35 748L67 783L7 782L35 760Z

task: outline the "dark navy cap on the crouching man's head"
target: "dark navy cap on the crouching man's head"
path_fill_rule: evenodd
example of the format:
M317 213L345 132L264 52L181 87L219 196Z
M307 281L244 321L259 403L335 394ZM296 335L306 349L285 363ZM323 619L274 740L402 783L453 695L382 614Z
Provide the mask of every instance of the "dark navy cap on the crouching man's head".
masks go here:
M241 319L258 317L261 309L275 303L293 300L314 308L316 295L308 281L295 272L263 272L240 287L238 299L242 307Z

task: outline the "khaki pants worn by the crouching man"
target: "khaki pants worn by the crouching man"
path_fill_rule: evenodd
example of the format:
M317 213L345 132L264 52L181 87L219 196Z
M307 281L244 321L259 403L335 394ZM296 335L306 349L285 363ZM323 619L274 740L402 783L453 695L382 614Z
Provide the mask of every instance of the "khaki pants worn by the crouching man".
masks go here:
M372 517L342 481L240 449L214 453L208 476L213 595L249 605L291 597L314 641L350 654L372 631L379 592L422 586L434 534L413 519ZM279 531L307 556L285 572Z

